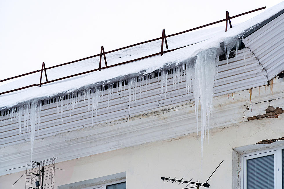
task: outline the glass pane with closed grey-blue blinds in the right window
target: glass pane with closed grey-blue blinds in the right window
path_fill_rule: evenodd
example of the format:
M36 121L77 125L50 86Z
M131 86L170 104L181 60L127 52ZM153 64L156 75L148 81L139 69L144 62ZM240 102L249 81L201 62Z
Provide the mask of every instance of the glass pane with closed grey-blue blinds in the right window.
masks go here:
M247 189L274 188L274 155L247 160Z

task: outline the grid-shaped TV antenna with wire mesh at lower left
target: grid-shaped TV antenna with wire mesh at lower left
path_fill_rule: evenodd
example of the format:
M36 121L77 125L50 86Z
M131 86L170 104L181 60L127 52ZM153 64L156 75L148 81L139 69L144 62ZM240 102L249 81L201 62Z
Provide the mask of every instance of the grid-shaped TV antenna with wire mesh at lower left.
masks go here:
M50 159L45 159L41 162L32 161L31 164L22 166L26 167L26 173L22 175L26 175L25 189L54 189L54 172L55 169L59 169L55 167L55 159L56 157L54 156ZM19 177L19 179L21 177ZM16 184L16 182L14 184Z

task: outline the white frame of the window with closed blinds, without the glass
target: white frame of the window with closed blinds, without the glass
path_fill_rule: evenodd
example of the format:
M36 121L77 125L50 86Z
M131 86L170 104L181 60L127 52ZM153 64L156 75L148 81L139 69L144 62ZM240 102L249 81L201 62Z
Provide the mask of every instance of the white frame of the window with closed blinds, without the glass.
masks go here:
M247 189L247 160L274 155L274 188L282 188L282 147L241 155L241 188Z

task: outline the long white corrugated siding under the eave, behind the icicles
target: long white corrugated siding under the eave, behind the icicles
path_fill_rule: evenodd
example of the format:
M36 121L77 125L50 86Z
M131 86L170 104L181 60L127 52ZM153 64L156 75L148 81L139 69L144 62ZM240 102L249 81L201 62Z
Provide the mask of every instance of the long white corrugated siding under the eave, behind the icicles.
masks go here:
M262 66L250 52L249 48L245 49L246 66L244 63L243 50L238 52L238 59L235 58L223 60L219 62L219 73L217 86L214 86L214 96L220 96L227 93L242 91L253 87L263 86L267 84L266 72ZM165 95L161 94L160 82L158 78L153 78L147 88L144 86L141 90L137 89L137 100L134 104L132 101L130 108L130 116L140 115L147 112L158 111L169 105L185 104L192 99L186 95L185 78L178 90L173 91L172 75L168 76L168 91ZM109 102L108 107L108 91L101 97L98 115L94 118L94 127L103 122L111 122L119 119L128 118L128 90L127 86L123 91L122 98L114 89L113 98ZM123 87L124 88L124 87ZM72 131L84 127L91 126L91 112L88 112L88 101L75 103L75 114L70 116L67 106L63 102L63 121L61 121L60 113L57 113L57 104L52 103L42 107L41 123L39 134L35 135L35 139L44 138L58 133ZM19 144L29 140L26 134L19 137L18 125L16 118L0 122L0 144L1 147ZM192 124L195 128L195 124Z

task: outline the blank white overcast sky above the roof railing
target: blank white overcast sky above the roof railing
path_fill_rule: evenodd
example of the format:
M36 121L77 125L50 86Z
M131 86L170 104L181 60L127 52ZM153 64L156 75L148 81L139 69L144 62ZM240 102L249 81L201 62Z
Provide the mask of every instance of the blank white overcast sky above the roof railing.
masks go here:
M109 51L160 37L162 29L169 35L218 21L227 10L234 16L280 2L0 0L0 80L41 69L42 62L50 67L99 54L102 45ZM225 22L211 27L220 25L225 30Z

